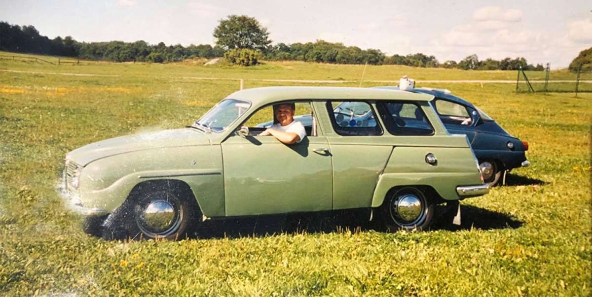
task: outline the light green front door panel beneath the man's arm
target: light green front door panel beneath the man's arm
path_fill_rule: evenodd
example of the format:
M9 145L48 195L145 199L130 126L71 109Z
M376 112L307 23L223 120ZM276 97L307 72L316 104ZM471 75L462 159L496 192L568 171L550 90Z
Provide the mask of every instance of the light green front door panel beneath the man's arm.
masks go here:
M231 135L221 143L227 216L332 208L326 137L307 135L300 143L283 144L273 136L251 134Z

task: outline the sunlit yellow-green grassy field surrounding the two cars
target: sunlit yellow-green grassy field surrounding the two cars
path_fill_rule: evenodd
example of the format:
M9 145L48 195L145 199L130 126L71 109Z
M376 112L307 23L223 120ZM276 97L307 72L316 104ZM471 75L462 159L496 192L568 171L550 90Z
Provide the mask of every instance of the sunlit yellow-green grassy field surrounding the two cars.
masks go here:
M67 151L183 127L239 88L236 80L189 77L244 78L253 88L279 84L262 79L356 80L362 70L300 62L247 69L0 60L0 295L591 295L592 93L575 98L514 93L515 85L503 83L429 85L469 99L530 143L532 166L512 172L509 185L463 201L459 228L436 224L431 231L387 234L349 212L334 220L331 232L282 232L279 216L214 222L205 238L104 241L82 232L81 219L56 192ZM365 79L403 74L516 78L516 72L368 66ZM384 83L364 83L372 85Z

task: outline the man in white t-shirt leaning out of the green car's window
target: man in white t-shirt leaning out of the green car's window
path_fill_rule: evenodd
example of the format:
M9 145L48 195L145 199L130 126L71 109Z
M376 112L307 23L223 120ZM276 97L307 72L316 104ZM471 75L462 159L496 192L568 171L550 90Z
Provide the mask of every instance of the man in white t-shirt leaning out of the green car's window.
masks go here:
M301 122L294 121L295 104L279 104L274 109L278 123L267 128L259 136L273 135L284 144L300 143L306 137L306 130Z

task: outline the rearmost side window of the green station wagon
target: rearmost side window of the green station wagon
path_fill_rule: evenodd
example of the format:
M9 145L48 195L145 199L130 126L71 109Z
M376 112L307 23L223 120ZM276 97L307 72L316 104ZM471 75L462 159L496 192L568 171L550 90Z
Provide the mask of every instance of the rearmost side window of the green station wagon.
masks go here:
M422 108L409 102L384 102L378 112L392 135L432 135L434 129Z

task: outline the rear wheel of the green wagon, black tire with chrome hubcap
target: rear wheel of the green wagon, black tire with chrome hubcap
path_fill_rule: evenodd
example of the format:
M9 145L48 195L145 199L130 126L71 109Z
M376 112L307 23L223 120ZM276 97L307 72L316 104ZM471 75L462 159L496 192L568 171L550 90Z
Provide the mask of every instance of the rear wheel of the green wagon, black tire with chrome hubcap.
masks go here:
M401 213L404 202L413 201L407 207L407 213ZM418 209L419 208L419 209ZM411 210L411 213L410 213ZM388 232L398 230L427 230L434 215L434 203L426 192L413 186L406 186L390 191L381 206L381 217Z

